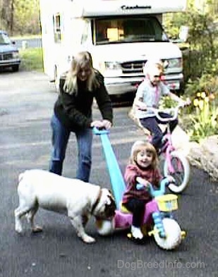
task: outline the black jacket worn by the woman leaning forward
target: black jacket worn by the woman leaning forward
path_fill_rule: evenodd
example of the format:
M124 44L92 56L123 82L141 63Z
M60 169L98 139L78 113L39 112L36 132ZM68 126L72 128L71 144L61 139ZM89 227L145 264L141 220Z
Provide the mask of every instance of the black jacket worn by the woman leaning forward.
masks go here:
M90 128L94 98L102 113L102 118L111 123L113 121L111 99L104 86L104 77L97 70L95 70L95 73L100 85L92 92L88 91L83 83L78 82L78 93L68 94L63 90L66 75L63 75L60 79L60 94L54 104L54 113L59 121L71 131Z

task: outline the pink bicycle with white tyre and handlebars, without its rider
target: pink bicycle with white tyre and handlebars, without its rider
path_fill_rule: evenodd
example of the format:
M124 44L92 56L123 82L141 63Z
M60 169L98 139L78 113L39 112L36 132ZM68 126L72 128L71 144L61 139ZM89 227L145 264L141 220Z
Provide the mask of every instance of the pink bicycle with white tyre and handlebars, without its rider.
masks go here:
M166 134L162 138L162 147L160 148L159 156L164 156L164 176L170 175L175 179L175 184L169 185L169 190L174 193L181 193L186 190L190 178L190 164L188 159L174 147L169 128L170 121L174 121L178 117L178 110L181 108L183 108L183 105L164 110L149 108L150 111L155 113L159 121L166 123ZM161 113L169 113L171 118L162 118ZM148 135L148 140L151 142L151 135Z

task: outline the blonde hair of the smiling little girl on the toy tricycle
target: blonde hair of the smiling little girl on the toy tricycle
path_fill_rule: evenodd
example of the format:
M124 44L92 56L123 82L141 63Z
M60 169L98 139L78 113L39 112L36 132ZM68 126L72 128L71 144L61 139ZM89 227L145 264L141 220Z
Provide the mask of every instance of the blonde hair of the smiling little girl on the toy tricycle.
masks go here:
M155 147L150 142L145 142L143 140L137 140L131 149L130 163L136 164L137 155L139 152L145 151L150 152L152 154L152 168L157 168L159 165L159 160L157 156L157 151Z

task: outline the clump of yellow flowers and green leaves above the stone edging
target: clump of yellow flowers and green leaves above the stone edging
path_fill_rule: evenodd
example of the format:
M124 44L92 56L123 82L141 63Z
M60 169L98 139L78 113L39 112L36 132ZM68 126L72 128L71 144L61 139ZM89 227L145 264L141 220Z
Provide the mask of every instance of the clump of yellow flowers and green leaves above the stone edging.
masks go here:
M183 116L183 128L190 135L190 140L200 142L202 138L218 133L218 78L204 74L189 81L185 97L192 105Z

